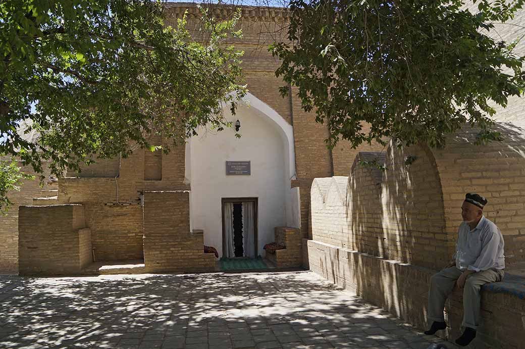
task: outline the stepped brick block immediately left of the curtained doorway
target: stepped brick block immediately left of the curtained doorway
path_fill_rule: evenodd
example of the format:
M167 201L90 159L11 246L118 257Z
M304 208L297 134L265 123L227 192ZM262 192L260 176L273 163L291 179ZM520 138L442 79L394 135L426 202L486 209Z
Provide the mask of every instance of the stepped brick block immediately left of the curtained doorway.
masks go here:
M213 271L202 231L190 231L190 193L144 192L144 264L148 272ZM213 256L213 259L212 259Z

